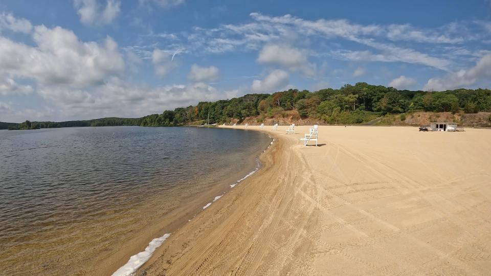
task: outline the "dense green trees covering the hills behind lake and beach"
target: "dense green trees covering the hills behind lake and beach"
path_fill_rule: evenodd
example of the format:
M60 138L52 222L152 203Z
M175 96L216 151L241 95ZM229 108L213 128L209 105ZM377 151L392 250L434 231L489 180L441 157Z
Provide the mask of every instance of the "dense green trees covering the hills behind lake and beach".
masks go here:
M296 110L301 118L317 118L328 124L353 124L370 121L389 113L414 111L476 113L491 110L491 90L456 89L447 91L409 91L359 82L340 89L326 88L315 92L289 89L274 94L248 94L230 100L199 102L196 106L166 110L143 118L103 118L68 122L27 122L12 129L72 126L181 126L239 122L257 117L266 118Z

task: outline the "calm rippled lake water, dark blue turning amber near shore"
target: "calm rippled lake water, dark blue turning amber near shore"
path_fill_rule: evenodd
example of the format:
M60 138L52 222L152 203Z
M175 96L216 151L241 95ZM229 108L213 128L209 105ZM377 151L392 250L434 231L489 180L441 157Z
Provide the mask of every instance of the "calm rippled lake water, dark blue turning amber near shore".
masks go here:
M97 271L135 233L253 170L270 141L192 127L2 130L0 274Z

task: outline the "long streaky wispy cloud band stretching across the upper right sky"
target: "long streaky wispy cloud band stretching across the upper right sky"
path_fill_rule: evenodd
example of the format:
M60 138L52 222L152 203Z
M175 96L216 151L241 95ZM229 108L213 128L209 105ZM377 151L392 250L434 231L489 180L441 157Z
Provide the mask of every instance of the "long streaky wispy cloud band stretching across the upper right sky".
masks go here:
M309 41L330 41L332 43L347 41L358 43L365 49L328 48L317 49L317 51L322 51L322 55L327 54L334 58L352 61L405 62L450 71L449 68L453 61L445 57L444 50L440 53L432 53L432 51L421 49L426 49L426 45L461 45L466 40L485 38L484 30L487 28L486 22L482 21L464 22L465 24L452 23L434 29L420 29L409 24L383 26L361 25L345 19L306 20L288 14L268 16L251 13L251 19L251 22L220 25L211 29L195 27L190 33L151 34L151 38L152 41L160 41L159 43L165 44L165 50L169 52L179 51L193 55L261 51L259 62L276 62L283 66L286 65L285 62L298 62L300 59L305 60L309 55L319 55L316 51L308 49L314 47ZM468 24L473 26L472 32L466 27ZM480 33L476 32L475 28L478 28ZM275 61L272 60L273 55L268 55L270 58L266 58L266 50L272 49L271 47L277 47L278 50L284 50L285 47L298 50L298 41L304 43L302 48L305 50L299 50L302 55L290 51L291 56L276 58ZM422 46L415 49L409 45ZM432 49L432 47L428 48Z

